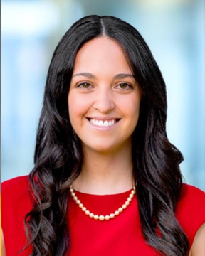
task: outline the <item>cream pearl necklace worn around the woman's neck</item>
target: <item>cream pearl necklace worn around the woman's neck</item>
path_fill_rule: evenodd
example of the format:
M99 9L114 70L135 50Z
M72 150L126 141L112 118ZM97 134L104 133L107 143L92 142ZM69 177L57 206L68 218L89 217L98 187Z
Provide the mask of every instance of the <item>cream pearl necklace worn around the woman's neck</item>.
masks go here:
M81 203L78 197L75 195L73 187L70 186L70 193L73 196L73 200L75 201L75 203L77 203L77 205L81 208L81 210L83 210L85 215L88 215L90 218L93 218L94 220L101 220L101 221L110 220L112 218L115 218L115 216L119 215L120 213L122 213L122 211L125 210L127 206L129 206L130 202L132 201L132 198L135 195L135 192L136 192L136 188L134 186L130 193L130 196L128 196L127 198L127 201L125 201L125 203L118 210L115 210L115 213L111 213L110 215L105 215L105 216L104 215L98 216L97 214L90 213L90 210L87 210L87 208L83 206L83 203Z

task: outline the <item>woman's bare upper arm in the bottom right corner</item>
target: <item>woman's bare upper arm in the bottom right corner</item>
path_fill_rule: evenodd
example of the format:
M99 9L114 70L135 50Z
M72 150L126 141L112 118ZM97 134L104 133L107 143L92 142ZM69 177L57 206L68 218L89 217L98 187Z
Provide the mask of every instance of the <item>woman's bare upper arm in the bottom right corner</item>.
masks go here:
M189 256L204 256L205 255L205 223L201 225L194 237L193 245Z

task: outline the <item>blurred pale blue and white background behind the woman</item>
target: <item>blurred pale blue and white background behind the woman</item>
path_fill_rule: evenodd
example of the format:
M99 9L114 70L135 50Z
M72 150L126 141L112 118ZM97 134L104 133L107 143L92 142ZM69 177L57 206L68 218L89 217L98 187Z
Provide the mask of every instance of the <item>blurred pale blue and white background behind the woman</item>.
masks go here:
M1 181L28 174L46 73L65 31L90 14L142 34L167 84L169 140L184 182L205 191L204 0L1 0Z

